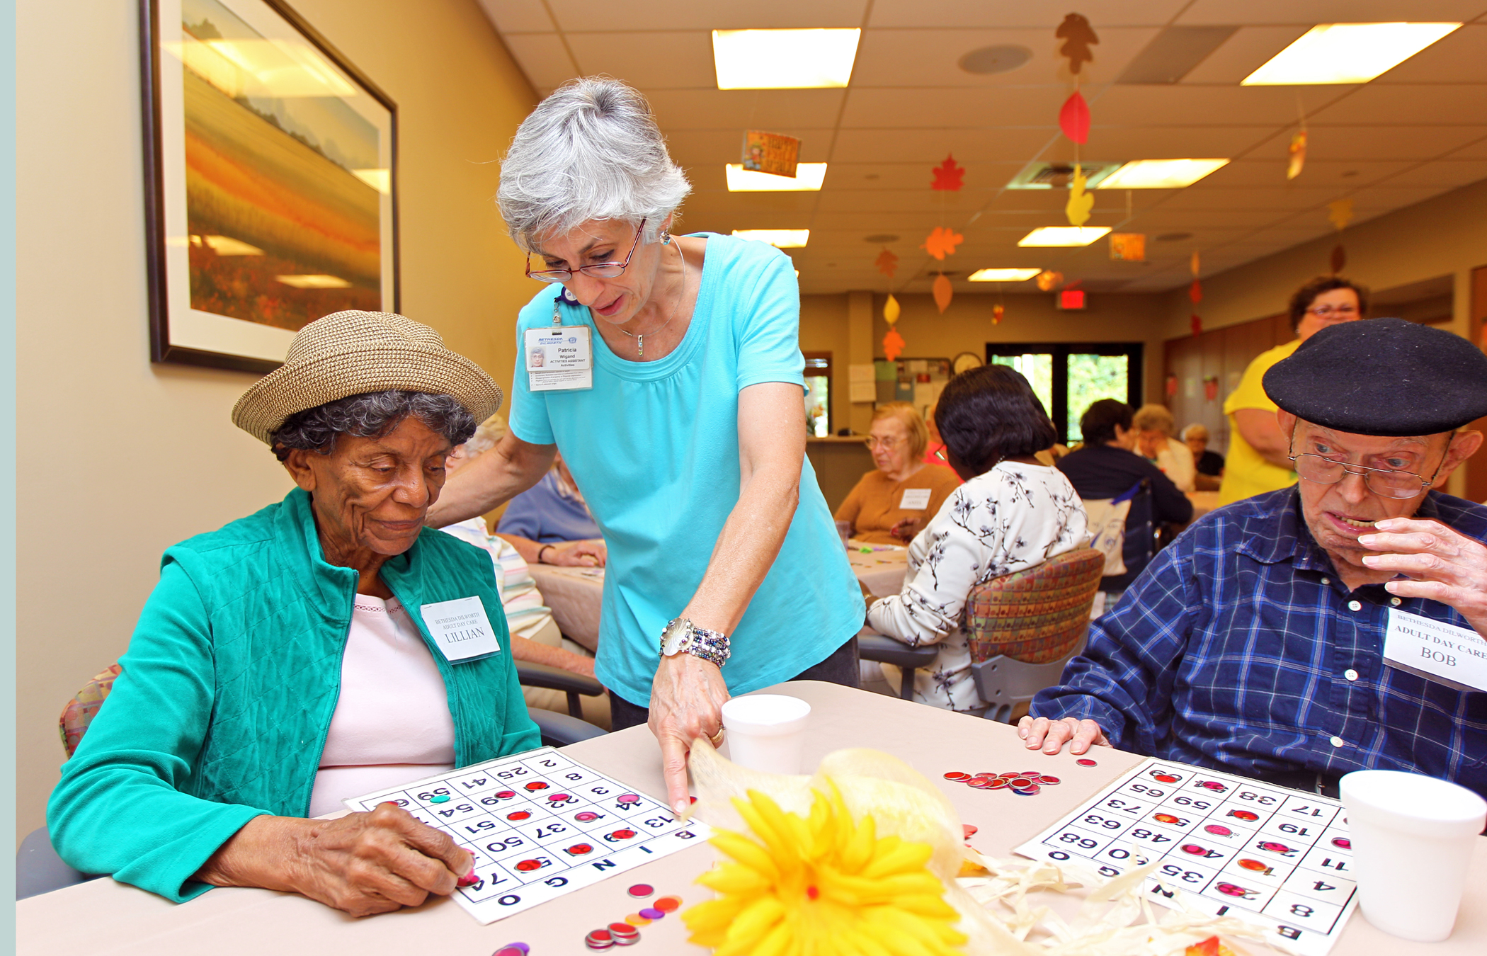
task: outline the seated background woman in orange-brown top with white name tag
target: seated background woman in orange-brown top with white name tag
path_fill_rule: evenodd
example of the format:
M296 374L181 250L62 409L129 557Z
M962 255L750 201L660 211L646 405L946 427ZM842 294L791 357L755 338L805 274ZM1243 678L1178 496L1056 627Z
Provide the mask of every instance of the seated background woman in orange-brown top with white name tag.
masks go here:
M837 520L852 523L852 537L870 544L901 544L938 513L961 485L946 465L923 462L929 431L907 401L889 401L873 412L867 450L873 471L848 494Z

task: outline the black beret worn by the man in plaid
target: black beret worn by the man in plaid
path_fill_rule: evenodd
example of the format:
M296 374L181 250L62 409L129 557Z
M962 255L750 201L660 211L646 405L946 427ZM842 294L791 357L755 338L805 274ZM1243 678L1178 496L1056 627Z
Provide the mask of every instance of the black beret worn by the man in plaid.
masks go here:
M1264 385L1297 418L1352 434L1439 434L1487 415L1487 355L1402 318L1329 326L1271 366Z

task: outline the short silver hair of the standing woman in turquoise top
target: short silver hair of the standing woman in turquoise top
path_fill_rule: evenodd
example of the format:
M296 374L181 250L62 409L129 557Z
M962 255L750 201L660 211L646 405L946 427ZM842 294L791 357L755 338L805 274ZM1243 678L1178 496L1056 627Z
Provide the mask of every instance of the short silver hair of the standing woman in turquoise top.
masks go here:
M522 120L495 193L526 251L541 236L596 220L645 220L645 241L691 192L671 161L650 104L607 76L570 80Z

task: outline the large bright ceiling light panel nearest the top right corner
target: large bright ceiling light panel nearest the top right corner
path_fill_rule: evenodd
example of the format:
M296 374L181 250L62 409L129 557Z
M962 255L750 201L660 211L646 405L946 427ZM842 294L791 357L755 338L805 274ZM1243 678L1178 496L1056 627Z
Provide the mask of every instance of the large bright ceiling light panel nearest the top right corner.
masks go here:
M1460 24L1317 24L1240 80L1240 86L1367 83Z

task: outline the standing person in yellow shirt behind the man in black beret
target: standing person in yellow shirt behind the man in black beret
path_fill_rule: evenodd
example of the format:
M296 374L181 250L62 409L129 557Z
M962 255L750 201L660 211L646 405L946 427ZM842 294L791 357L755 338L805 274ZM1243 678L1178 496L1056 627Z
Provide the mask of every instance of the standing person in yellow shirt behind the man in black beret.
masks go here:
M1224 400L1228 415L1228 465L1218 489L1219 504L1262 495L1295 483L1288 459L1288 437L1276 425L1276 403L1265 394L1261 379L1282 358L1289 357L1313 335L1362 318L1368 312L1368 290L1340 275L1312 280L1291 296L1291 330L1297 337L1261 352L1239 388Z

